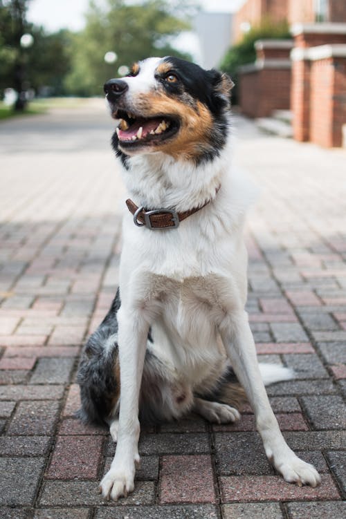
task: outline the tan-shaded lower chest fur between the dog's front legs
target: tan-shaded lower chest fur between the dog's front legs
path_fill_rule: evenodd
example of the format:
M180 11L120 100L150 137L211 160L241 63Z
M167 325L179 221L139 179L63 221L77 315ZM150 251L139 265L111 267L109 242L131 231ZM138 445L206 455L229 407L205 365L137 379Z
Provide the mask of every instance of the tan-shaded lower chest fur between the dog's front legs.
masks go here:
M155 287L150 348L185 378L198 382L222 356L217 325L233 305L230 279L210 274L176 281L152 274L150 281Z

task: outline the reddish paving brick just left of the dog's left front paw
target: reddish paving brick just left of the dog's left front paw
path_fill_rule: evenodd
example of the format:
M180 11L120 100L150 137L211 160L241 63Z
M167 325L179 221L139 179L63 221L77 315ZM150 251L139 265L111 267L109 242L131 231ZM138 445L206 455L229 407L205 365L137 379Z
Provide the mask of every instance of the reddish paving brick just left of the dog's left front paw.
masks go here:
M58 436L46 478L91 480L98 476L103 439L100 436Z

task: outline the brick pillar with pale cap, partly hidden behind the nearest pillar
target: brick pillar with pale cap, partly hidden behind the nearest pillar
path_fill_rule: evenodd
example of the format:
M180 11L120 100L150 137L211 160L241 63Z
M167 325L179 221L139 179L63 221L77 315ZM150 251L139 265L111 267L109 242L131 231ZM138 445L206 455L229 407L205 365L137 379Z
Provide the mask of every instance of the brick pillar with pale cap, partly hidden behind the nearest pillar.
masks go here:
M293 138L311 137L311 59L309 49L323 44L346 42L346 23L298 23L292 26L294 48L291 52L291 110Z

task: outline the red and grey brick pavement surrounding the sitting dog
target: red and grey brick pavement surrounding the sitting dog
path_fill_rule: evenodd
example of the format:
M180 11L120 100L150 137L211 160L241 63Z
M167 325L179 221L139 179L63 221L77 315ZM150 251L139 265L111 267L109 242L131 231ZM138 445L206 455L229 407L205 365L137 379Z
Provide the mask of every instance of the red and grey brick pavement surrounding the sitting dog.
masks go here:
M114 446L83 426L80 344L116 290L123 189L102 104L0 126L0 518L345 517L345 151L235 120L235 162L262 190L248 223L248 312L260 359L295 369L268 389L289 444L322 474L284 483L251 409L235 426L199 417L143 431L136 489L104 503Z

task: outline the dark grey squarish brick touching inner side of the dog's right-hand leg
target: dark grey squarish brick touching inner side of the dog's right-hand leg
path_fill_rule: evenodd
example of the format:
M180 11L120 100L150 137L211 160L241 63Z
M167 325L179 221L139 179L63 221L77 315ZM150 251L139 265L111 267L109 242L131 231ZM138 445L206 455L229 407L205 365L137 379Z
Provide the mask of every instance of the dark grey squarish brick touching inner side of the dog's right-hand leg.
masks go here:
M217 473L272 474L258 433L216 433Z

